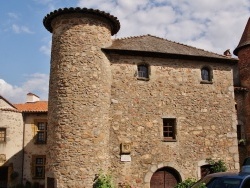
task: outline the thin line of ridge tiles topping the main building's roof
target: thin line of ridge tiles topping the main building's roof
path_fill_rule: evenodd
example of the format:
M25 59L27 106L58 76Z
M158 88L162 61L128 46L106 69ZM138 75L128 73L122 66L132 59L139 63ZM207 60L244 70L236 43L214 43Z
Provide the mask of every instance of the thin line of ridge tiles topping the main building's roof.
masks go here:
M208 50L205 50L205 49L202 49L202 48L197 48L197 47L194 47L194 46L191 46L191 45L183 44L183 43L180 43L180 42L176 42L176 41L173 41L173 40L169 40L169 39L166 39L166 38L163 38L163 37L159 37L159 36L155 36L155 35L151 35L151 34L131 36L131 37L123 37L123 38L118 38L118 39L115 39L115 40L126 40L126 39L133 39L133 38L142 38L142 37L146 37L146 36L150 36L150 37L154 37L154 38L157 38L157 39L165 40L165 41L168 41L168 42L171 42L171 43L174 43L174 44L179 44L179 45L182 45L182 46L185 46L185 47L193 48L195 50L201 50L203 52L212 53L214 55L218 55L218 56L221 56L223 58L226 57L228 59L235 59L235 58L223 55L223 54L215 53L215 52L208 51Z

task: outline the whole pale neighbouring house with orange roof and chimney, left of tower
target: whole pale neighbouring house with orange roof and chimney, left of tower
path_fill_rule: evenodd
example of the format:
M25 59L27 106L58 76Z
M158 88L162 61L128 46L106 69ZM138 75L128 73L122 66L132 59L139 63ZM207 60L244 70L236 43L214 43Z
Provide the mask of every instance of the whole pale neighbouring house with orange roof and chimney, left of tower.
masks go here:
M48 102L28 93L24 104L0 96L0 187L45 186Z

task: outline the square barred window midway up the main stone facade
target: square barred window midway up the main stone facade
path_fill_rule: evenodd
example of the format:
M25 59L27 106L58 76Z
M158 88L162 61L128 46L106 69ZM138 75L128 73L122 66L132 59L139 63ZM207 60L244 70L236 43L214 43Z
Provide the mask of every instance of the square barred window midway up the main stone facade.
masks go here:
M176 119L163 118L163 139L171 141L176 139Z

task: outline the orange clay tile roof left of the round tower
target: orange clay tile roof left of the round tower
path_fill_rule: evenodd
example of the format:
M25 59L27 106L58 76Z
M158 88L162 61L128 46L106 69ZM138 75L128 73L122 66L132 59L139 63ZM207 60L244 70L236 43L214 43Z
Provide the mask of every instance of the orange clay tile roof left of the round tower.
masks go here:
M24 104L14 104L21 112L48 112L48 101L28 102Z

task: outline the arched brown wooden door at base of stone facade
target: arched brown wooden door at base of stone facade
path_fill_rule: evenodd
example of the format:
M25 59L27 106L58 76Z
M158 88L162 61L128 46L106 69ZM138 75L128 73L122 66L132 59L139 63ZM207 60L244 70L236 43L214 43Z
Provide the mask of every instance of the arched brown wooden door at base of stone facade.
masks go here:
M150 180L150 188L174 188L181 182L181 176L174 168L158 169Z

